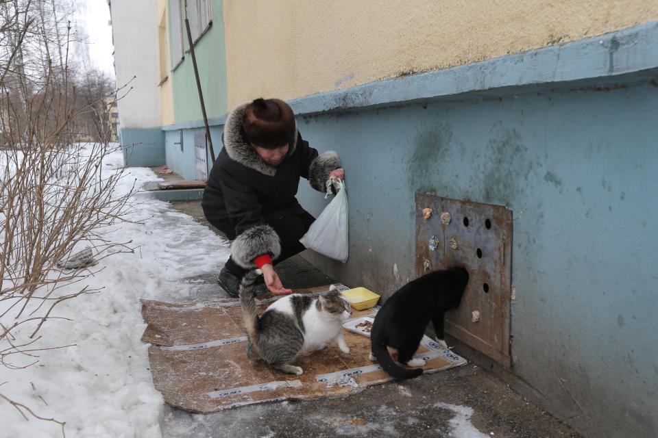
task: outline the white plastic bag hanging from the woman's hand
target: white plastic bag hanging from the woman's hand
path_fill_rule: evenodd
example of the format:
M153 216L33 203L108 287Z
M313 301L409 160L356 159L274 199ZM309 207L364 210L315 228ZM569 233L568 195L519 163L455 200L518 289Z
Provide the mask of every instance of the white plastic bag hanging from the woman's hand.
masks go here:
M327 194L331 193L332 186L338 190L336 196L324 207L300 242L308 249L345 263L349 249L348 192L343 181L332 178L327 181Z

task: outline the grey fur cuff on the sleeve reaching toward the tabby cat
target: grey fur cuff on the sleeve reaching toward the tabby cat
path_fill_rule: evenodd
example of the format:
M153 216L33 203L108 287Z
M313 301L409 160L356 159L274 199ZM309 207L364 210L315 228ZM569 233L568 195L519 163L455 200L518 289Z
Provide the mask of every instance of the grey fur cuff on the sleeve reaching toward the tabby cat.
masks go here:
M263 254L270 254L273 259L281 254L279 236L269 225L246 229L231 244L231 257L245 269L256 268L254 259Z

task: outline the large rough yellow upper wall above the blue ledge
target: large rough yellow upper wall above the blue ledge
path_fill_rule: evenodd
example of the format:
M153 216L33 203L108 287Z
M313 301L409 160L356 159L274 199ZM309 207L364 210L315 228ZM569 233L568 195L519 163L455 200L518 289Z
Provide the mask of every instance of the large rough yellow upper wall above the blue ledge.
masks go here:
M604 34L658 0L224 0L228 107Z

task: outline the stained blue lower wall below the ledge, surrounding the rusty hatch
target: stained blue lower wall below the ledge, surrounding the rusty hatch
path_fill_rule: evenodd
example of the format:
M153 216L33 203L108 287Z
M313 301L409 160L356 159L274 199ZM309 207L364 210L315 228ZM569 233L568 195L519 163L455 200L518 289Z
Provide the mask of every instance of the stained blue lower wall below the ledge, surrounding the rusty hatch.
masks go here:
M513 371L592 436L658 436L658 87L513 91L301 117L350 199L350 260L313 261L388 295L415 276L415 192L508 205Z

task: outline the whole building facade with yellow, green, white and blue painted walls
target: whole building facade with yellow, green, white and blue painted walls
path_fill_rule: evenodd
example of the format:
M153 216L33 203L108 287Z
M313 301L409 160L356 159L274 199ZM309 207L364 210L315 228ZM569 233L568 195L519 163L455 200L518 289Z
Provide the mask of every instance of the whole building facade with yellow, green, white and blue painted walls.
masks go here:
M343 160L350 259L308 259L389 296L419 273L416 194L507 207L510 287L491 293L510 297L515 389L586 436L658 436L658 1L188 0L188 16L215 153L226 113L263 96ZM117 83L136 76L128 162L193 179L212 157L183 18L112 1Z

